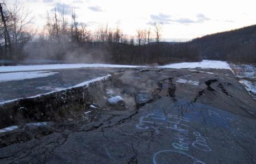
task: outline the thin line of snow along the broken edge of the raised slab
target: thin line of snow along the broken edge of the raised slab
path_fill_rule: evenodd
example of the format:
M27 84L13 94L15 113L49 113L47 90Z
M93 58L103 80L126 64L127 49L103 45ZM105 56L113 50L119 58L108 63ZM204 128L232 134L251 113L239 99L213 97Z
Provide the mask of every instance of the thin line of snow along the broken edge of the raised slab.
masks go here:
M110 77L111 77L111 74L108 74L107 76L97 77L97 78L91 79L89 81L85 81L85 82L79 83L78 85L75 85L75 86L72 86L72 87L69 87L69 88L63 88L62 90L59 90L59 91L64 91L64 90L68 90L68 89L71 89L71 88L77 88L77 87L88 87L89 84L91 84L91 83L94 83L94 82L97 82L97 81L101 81L101 80L106 80L107 78L110 78ZM40 97L42 95L49 95L51 93L59 92L59 91L51 91L51 92L44 93L44 94L41 94L41 95L36 95L36 96L31 96L31 97L26 97L26 98ZM4 103L9 103L9 102L17 101L17 100L20 100L20 99L22 99L22 98L16 98L16 99L13 99L13 100L3 101L3 102L0 102L0 105L3 105Z

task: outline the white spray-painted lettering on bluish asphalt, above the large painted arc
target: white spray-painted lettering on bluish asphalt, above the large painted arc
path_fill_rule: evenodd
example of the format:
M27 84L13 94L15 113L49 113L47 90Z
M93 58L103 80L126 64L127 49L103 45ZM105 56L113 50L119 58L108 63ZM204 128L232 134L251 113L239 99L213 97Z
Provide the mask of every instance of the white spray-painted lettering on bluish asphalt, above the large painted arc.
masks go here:
M195 141L189 139L190 120L186 117L165 114L160 112L149 113L140 117L139 124L136 128L140 130L153 130L155 133L160 133L159 128L167 128L174 131L174 139L178 142L173 142L172 146L178 150L189 151L189 146L193 146L201 151L211 151L208 146L206 137L203 137L199 132L193 132Z

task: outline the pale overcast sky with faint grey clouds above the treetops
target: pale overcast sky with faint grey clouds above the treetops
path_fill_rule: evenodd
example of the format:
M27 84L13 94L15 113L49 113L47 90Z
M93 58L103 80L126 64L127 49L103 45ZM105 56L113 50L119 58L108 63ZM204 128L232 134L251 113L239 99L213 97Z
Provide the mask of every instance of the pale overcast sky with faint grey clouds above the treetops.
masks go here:
M15 0L7 0L8 4ZM135 35L136 29L163 23L166 41L188 40L206 34L256 24L255 0L20 0L35 15L37 28L45 24L46 12L65 3L67 16L72 9L79 22L91 29L106 24Z

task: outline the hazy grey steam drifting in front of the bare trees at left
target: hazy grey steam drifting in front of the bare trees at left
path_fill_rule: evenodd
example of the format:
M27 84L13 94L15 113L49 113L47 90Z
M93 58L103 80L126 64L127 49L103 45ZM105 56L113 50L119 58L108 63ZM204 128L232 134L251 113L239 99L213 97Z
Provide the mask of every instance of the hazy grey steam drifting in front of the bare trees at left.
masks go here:
M90 43L93 44L93 43ZM27 43L23 51L28 59L53 59L68 63L108 63L108 49L106 47L73 43Z

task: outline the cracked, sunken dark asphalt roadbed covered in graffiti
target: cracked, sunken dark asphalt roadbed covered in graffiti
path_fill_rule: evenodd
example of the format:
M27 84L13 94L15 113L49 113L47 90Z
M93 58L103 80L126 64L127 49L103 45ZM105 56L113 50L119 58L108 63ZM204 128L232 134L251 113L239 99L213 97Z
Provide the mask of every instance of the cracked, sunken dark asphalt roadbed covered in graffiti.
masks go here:
M0 163L256 162L256 103L230 71L123 69L97 89L67 115L34 120L51 131L0 148Z

